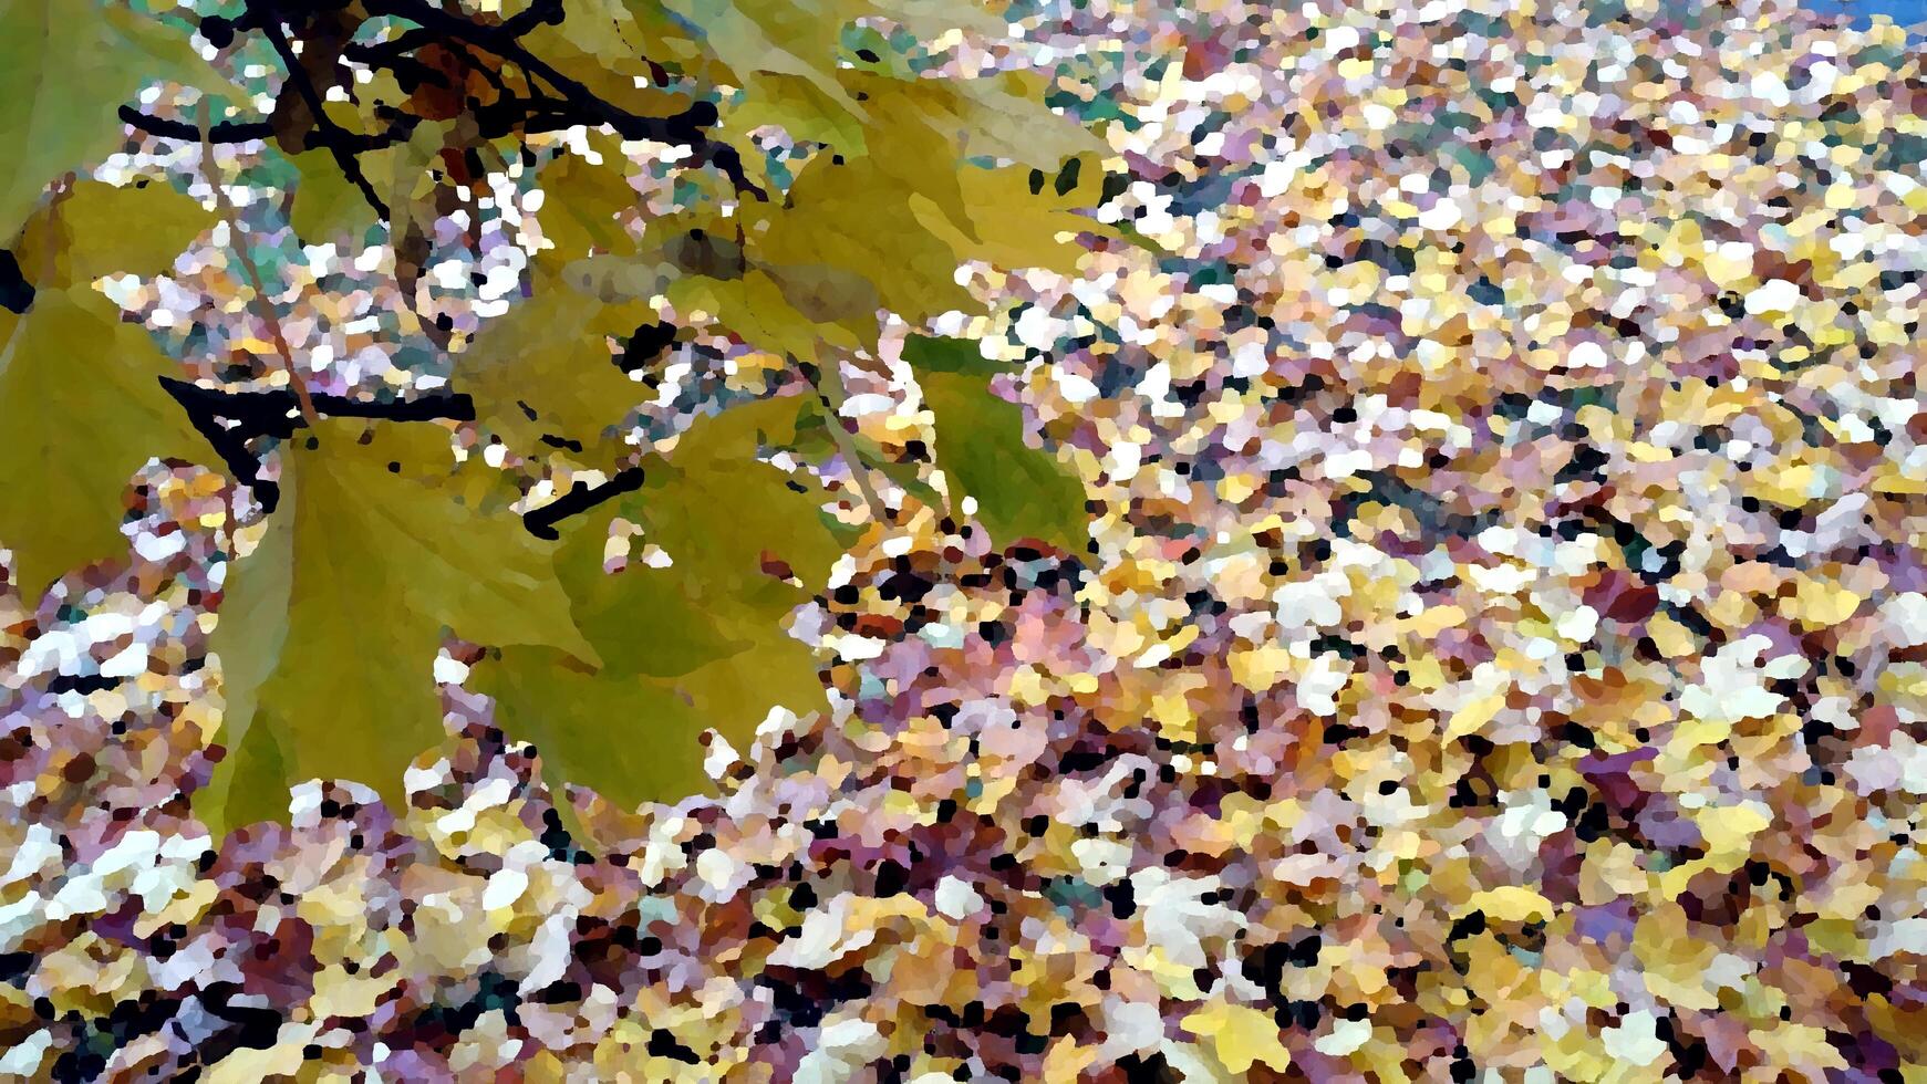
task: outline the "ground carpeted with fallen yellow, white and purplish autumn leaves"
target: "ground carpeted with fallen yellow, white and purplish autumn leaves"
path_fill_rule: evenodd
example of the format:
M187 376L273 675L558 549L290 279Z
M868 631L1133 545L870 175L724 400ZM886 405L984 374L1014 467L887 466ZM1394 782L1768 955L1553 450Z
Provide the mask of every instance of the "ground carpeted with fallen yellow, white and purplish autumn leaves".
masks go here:
M950 64L1110 121L1116 233L923 331L1008 362L1089 537L817 477L861 529L790 622L831 707L692 749L713 795L551 789L449 643L401 801L214 838L210 601L264 543L148 464L129 564L6 603L0 1074L1927 1072L1919 46L1754 0L1012 19ZM861 433L940 445L935 343L850 374Z

